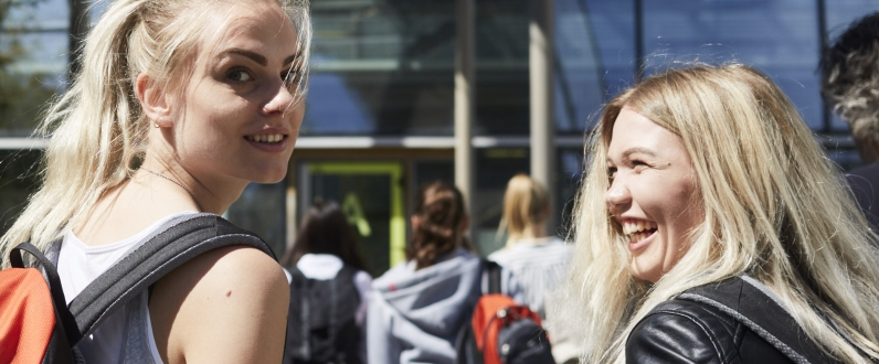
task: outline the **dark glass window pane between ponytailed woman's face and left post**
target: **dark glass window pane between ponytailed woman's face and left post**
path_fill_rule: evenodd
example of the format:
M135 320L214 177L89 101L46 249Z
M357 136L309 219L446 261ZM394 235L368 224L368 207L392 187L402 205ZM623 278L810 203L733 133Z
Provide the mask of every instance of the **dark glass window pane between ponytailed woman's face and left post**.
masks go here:
M305 135L453 133L455 2L311 3Z

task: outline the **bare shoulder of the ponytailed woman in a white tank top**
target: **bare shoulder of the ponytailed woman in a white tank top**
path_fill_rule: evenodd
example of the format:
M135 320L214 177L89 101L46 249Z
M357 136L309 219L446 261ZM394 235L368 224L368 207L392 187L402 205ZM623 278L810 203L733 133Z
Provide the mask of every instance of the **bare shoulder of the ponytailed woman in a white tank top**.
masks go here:
M280 266L248 247L205 253L163 277L150 300L167 363L280 360L289 287Z

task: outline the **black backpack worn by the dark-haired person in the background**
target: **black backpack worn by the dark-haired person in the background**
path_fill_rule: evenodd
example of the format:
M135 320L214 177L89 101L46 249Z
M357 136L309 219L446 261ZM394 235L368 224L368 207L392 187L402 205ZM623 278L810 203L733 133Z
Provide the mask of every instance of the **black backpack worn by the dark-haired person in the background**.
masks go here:
M328 280L305 277L290 268L290 306L284 364L360 364L361 331L357 325L360 292L357 269L342 266Z

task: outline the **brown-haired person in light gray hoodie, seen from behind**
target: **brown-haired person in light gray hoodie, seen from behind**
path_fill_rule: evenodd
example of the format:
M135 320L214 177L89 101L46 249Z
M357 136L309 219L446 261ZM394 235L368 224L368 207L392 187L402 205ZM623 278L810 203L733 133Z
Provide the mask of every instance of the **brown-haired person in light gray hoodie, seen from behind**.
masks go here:
M457 189L442 182L422 189L411 222L406 261L372 283L370 364L454 363L456 340L486 291L484 260L462 247L469 221ZM521 300L508 271L499 281L502 293Z

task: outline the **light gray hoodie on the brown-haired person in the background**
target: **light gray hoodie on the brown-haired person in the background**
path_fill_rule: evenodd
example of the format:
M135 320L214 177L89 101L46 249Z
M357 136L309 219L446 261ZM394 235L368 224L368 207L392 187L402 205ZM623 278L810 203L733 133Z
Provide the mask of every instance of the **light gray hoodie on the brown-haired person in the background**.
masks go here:
M414 261L396 265L372 282L367 318L370 364L453 363L455 339L486 282L481 259L456 249L438 263L415 270ZM509 271L501 292L521 302Z

